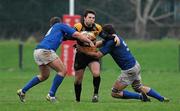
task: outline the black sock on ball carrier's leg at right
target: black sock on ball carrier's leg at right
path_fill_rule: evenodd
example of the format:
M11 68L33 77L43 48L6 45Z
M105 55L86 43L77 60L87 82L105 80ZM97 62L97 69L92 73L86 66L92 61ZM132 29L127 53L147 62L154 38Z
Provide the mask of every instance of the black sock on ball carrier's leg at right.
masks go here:
M98 94L101 77L93 77L94 94Z

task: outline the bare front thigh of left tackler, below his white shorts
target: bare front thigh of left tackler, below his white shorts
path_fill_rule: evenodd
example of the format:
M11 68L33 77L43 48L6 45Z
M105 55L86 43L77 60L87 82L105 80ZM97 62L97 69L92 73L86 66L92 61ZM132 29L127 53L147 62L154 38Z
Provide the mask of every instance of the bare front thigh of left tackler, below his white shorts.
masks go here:
M55 59L54 61L50 62L48 65L52 69L54 69L58 74L60 74L61 76L65 76L66 67L59 57L57 59Z

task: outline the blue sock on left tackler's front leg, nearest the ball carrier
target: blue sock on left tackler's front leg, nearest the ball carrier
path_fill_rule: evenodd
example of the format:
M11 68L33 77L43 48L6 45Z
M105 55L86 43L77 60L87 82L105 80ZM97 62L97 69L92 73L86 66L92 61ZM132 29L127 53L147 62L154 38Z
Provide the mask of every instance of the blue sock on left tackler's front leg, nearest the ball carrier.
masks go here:
M55 96L56 90L60 86L60 84L62 83L63 79L64 79L63 76L56 74L56 76L54 77L51 89L49 91L50 96L52 96L52 97Z

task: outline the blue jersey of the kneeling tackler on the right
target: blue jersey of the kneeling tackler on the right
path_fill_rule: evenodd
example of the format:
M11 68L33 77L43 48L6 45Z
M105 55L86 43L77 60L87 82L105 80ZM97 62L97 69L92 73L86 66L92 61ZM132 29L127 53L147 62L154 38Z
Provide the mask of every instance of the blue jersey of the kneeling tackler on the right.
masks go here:
M104 43L103 47L100 48L100 51L104 55L109 53L122 70L128 70L135 65L136 60L131 54L124 40L121 37L119 37L119 39L120 39L120 46L115 46L114 40L111 39L111 40L107 40Z

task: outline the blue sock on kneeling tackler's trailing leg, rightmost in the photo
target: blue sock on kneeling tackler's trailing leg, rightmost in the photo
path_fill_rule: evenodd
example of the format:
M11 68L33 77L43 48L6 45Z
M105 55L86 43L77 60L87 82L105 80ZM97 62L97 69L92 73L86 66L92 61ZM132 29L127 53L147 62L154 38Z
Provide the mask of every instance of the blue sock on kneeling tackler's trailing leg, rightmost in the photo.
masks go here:
M158 99L159 101L163 101L164 97L162 97L159 93L157 93L155 90L150 89L150 91L147 93L148 96L154 97Z

